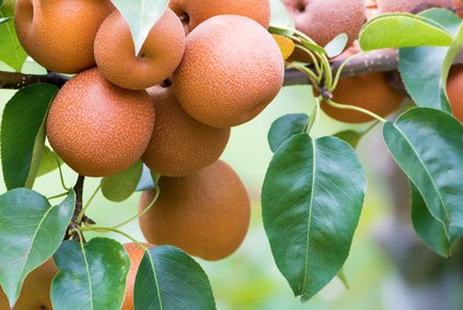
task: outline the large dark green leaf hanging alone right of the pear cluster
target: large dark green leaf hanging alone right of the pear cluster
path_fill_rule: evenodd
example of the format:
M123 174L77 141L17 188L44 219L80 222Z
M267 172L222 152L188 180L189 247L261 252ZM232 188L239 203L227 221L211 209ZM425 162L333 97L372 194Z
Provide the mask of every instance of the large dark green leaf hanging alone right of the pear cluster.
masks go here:
M367 179L343 140L293 136L275 153L262 208L275 262L308 300L342 269L363 204Z

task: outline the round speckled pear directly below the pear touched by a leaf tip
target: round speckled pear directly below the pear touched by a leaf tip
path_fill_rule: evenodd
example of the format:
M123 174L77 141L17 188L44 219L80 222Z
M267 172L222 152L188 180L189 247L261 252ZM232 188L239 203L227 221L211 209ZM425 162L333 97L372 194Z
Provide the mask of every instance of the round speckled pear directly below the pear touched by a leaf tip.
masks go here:
M139 160L154 128L147 91L121 89L97 69L77 74L54 100L46 124L48 140L79 174L106 176Z

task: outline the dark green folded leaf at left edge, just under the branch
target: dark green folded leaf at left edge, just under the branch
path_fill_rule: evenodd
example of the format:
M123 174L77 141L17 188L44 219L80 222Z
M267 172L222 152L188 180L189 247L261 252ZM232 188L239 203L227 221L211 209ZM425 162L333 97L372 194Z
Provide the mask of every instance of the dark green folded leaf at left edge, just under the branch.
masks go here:
M34 84L7 103L1 122L1 162L8 190L32 188L43 156L45 119L58 89Z

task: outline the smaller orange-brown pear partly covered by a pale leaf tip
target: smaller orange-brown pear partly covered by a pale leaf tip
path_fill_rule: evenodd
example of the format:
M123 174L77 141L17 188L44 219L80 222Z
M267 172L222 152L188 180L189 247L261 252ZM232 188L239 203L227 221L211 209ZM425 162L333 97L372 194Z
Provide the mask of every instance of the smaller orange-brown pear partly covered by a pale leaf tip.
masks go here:
M167 9L151 28L138 57L127 22L118 11L102 24L95 38L100 72L125 89L144 90L172 76L185 50L182 22Z

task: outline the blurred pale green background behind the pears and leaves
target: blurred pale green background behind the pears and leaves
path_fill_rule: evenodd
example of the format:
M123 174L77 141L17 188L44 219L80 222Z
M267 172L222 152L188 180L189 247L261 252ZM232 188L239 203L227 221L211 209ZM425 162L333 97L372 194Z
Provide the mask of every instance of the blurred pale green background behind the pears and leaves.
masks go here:
M1 67L1 70L9 70ZM42 69L27 62L25 71ZM231 257L220 262L199 261L209 275L218 309L352 309L352 310L460 310L463 309L463 260L456 246L452 260L440 259L414 234L409 220L407 183L397 172L382 143L381 128L370 131L358 152L367 169L369 188L350 256L345 265L349 288L334 279L306 303L301 303L278 272L266 239L261 216L261 187L271 152L267 133L271 123L287 113L312 111L309 87L285 88L271 105L256 119L234 128L222 157L244 181L253 200L253 216L243 245ZM4 106L14 94L1 90ZM323 116L320 133L334 134L349 125ZM66 184L71 186L76 173L65 168ZM99 179L86 179L84 200L96 188ZM62 192L57 171L39 177L37 192L53 196ZM3 182L0 193L4 193ZM121 204L114 204L99 194L89 217L99 226L118 223L137 213L139 194ZM58 202L55 202L58 203ZM138 222L123 229L144 241ZM92 238L95 234L86 234ZM104 234L128 242L116 234ZM461 244L460 244L461 245Z

